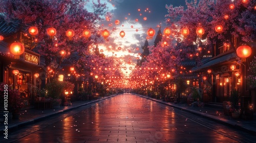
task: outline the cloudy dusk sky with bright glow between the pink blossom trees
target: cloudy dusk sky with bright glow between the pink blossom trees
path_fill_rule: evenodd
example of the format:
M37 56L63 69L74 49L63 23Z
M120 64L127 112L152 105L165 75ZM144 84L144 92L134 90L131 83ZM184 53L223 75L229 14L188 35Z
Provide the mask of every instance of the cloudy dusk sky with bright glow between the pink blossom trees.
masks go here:
M106 56L113 56L123 62L123 66L134 67L137 63L139 53L142 53L141 45L146 40L146 32L148 28L154 28L156 33L161 22L161 31L166 27L165 15L167 13L166 5L184 6L185 0L101 0L101 3L108 4L109 10L113 17L109 21L104 20L100 24L103 29L112 31L114 27L116 31L112 32L109 42L99 45L99 50L103 50ZM146 20L144 20L146 17ZM120 21L119 25L115 24L115 20ZM138 21L136 21L138 19ZM133 28L132 28L133 27ZM136 32L138 29L138 32ZM125 32L125 36L119 36L120 31ZM155 34L156 36L156 34ZM154 44L155 37L148 40L150 45ZM118 50L118 47L121 50ZM139 47L139 51L136 50ZM130 62L129 62L130 61Z

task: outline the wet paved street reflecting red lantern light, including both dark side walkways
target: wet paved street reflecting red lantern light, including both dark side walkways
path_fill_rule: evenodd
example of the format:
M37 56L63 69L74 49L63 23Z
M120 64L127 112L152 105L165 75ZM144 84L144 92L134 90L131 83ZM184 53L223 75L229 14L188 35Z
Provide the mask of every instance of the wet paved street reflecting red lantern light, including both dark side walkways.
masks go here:
M91 102L93 103L90 104ZM233 120L221 114L223 111L217 111L210 107L198 108L185 104L166 103L162 100L152 98L148 100L144 96L125 93L95 101L76 101L72 106L57 110L24 110L19 120L11 122L9 139L3 139L1 136L0 141L254 142L256 140L255 134L241 131L243 129L254 133L255 119ZM24 126L25 124L27 126ZM234 129L233 127L236 126L238 128ZM1 130L2 127L1 124Z

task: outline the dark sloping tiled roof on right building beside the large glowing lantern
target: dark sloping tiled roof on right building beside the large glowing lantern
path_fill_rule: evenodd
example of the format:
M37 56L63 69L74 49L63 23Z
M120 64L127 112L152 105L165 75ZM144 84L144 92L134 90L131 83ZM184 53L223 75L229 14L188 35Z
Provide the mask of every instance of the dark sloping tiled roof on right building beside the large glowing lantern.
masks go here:
M236 57L237 57L236 53L230 53L230 54L224 55L222 57L219 57L219 58L216 58L216 59L213 59L213 60L210 59L210 60L206 61L205 63L203 63L202 66L193 67L191 69L191 71L198 71L200 69L207 68L207 67L210 67L212 65L224 63L224 62L226 62L230 59L236 58Z

